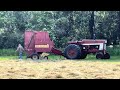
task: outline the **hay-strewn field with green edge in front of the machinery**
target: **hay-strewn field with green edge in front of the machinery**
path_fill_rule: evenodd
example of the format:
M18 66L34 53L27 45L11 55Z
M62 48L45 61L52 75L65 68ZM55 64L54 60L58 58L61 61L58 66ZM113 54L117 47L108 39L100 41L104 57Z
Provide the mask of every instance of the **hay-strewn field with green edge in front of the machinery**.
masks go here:
M0 79L120 79L119 58L96 60L88 56L85 60L66 60L49 56L49 60L19 61L17 56L1 56Z

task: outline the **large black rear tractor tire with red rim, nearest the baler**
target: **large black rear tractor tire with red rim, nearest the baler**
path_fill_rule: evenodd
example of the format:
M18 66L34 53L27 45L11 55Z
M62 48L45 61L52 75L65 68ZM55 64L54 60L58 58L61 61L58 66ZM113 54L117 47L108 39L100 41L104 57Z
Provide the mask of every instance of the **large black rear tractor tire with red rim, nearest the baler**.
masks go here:
M78 59L81 57L81 48L75 44L69 44L64 51L64 57L67 59Z

